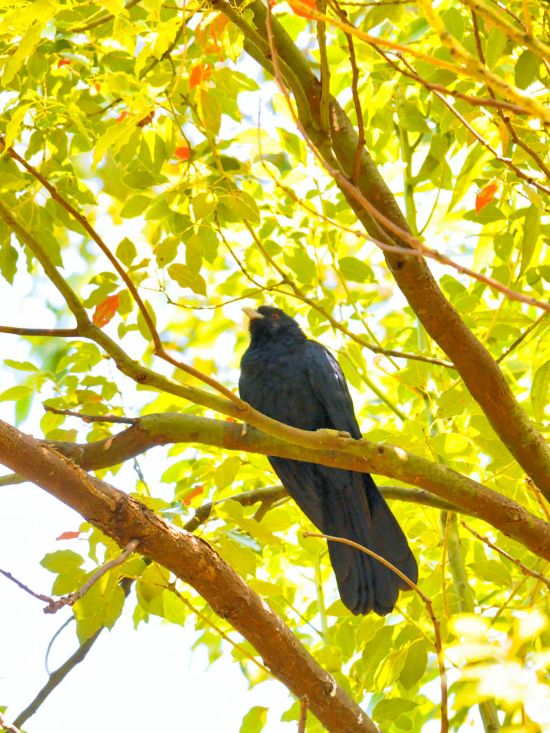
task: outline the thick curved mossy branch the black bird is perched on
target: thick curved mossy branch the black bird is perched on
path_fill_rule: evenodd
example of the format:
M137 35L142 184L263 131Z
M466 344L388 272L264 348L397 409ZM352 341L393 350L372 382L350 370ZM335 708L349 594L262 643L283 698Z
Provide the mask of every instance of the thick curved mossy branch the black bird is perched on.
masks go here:
M311 435L315 437L317 433L312 432ZM106 468L166 443L202 443L296 460L307 458L322 465L381 474L450 501L459 511L464 510L485 520L536 555L550 559L550 526L510 498L444 465L432 463L396 446L337 436L333 440L329 450L318 446L304 452L301 446L272 438L260 430L249 428L243 435L238 423L163 413L144 416L139 423L105 441L80 446L73 443L54 445L59 452L74 457L83 468Z

